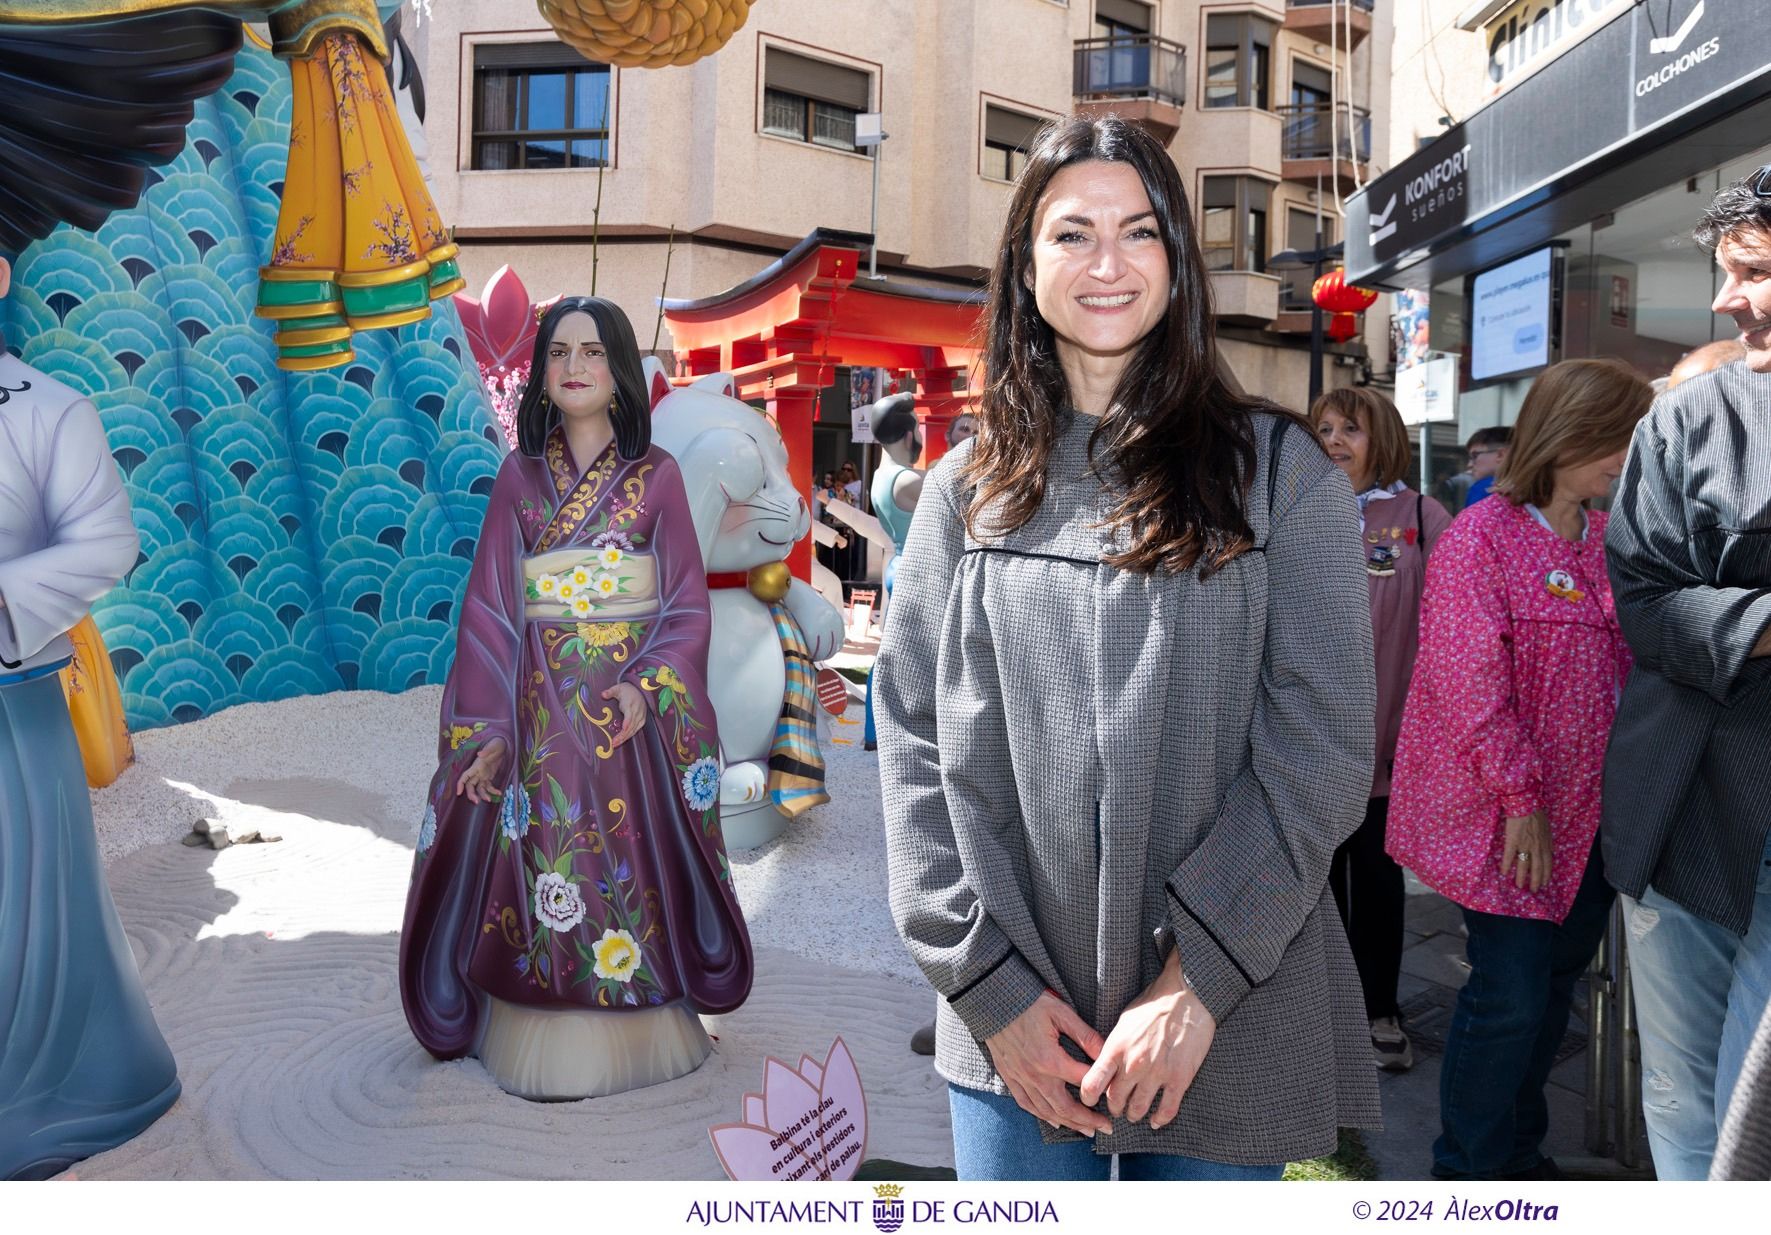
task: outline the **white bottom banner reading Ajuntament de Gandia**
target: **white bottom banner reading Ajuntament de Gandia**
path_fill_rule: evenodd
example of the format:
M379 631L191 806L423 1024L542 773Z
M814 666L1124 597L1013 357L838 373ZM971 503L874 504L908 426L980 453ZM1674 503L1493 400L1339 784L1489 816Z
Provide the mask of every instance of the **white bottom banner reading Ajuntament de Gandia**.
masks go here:
M1679 1231L1762 1230L1771 1184L101 1184L5 1189L7 1230L280 1235L498 1230L583 1214L625 1231ZM275 1192L275 1196L273 1196ZM515 1207L515 1208L512 1208ZM522 1217L528 1214L531 1217ZM1759 1214L1759 1217L1752 1217ZM554 1226L554 1221L544 1221Z

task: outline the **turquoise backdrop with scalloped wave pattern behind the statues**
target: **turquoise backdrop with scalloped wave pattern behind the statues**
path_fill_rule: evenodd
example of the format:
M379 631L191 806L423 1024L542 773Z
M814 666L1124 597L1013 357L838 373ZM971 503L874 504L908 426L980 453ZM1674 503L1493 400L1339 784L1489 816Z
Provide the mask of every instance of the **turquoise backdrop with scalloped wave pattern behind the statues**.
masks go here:
M253 317L289 151L289 71L246 50L179 159L97 234L32 245L7 344L87 392L142 556L94 615L133 728L246 702L439 682L503 459L453 307L276 369Z

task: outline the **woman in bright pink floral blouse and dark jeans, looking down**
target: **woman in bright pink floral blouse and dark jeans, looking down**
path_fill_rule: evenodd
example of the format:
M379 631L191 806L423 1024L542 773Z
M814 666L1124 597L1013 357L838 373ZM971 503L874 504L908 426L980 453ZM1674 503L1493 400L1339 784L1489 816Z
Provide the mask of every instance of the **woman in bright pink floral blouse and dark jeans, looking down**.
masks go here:
M1594 838L1629 649L1587 503L1652 390L1571 360L1525 397L1496 501L1435 546L1387 849L1463 907L1470 978L1440 1070L1438 1178L1553 1178L1544 1083L1612 889Z

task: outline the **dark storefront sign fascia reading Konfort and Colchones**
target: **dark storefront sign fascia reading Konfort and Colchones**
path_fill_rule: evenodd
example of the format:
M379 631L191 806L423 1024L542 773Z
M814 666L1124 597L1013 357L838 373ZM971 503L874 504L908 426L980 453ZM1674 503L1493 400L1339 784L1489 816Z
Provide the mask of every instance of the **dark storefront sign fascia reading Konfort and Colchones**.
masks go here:
M1431 287L1771 133L1764 0L1638 4L1346 204L1348 282Z

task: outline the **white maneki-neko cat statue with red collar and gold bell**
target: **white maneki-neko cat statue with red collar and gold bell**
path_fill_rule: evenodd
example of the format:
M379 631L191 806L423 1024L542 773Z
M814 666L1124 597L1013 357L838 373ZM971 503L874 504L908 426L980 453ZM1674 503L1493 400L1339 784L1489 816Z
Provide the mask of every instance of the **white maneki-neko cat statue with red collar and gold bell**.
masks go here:
M843 617L788 572L811 510L774 422L737 399L730 374L673 388L655 358L645 367L652 439L682 468L714 608L707 691L724 758L719 824L726 849L753 849L829 801L815 664L843 647Z

